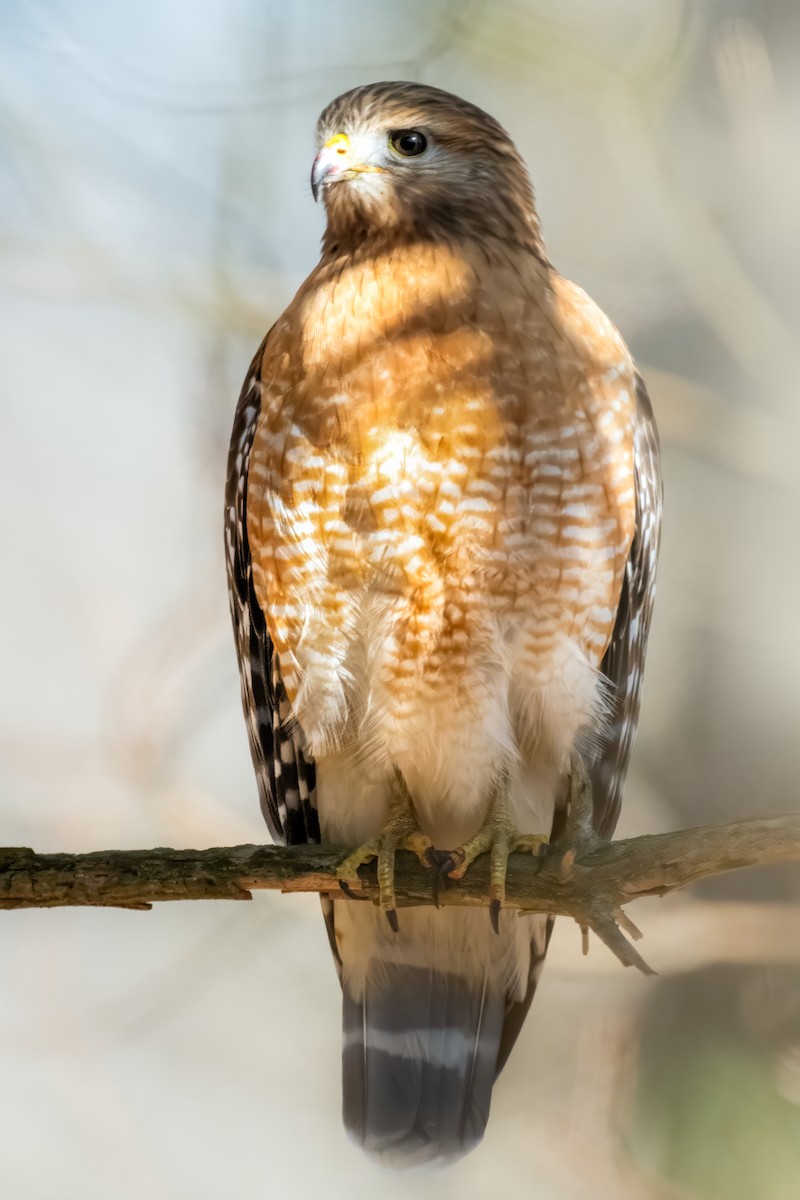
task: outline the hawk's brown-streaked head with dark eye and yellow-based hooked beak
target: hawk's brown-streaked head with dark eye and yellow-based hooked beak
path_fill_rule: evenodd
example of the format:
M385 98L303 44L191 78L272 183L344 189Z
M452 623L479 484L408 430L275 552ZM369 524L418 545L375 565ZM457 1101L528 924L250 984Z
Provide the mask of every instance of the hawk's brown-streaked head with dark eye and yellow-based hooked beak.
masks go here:
M378 235L503 238L542 252L525 166L501 125L419 83L375 83L332 101L311 175L325 245Z

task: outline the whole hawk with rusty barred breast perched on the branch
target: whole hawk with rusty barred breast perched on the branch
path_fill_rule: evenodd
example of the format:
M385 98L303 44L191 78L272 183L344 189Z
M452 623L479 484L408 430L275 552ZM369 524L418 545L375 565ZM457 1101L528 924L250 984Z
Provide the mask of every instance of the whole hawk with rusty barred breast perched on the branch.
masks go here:
M638 718L661 482L609 319L551 265L505 130L378 83L318 126L321 258L236 409L225 542L261 808L284 842L378 857L380 907L325 900L350 1134L395 1166L483 1135L552 919L505 865L583 764L609 835ZM395 913L393 856L493 905ZM381 911L383 910L383 911ZM389 919L387 919L389 918Z

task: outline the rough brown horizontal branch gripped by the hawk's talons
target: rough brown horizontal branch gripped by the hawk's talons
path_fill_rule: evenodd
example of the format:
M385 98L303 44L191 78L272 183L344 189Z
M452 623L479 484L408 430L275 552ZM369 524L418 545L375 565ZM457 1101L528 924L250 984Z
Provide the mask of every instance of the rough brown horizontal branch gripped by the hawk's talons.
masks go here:
M97 905L150 908L160 900L249 900L255 888L326 892L341 896L336 869L347 850L335 846L228 846L215 850L108 850L90 854L36 854L0 848L0 908ZM572 917L593 929L626 966L649 967L625 934L638 930L622 906L663 895L723 871L800 862L800 812L724 826L604 842L576 858L529 854L509 863L507 908ZM375 901L374 866L360 872L356 899ZM401 906L434 902L433 878L409 853L397 856ZM488 862L480 858L458 883L439 893L445 905L487 907Z

